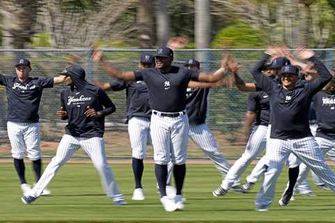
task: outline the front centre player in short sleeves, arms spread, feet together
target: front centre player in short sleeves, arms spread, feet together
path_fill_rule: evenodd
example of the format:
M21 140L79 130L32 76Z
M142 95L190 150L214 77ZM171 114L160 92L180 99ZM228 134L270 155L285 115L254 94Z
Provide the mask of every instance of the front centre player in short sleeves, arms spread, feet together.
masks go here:
M101 61L102 53L94 53L94 61ZM161 193L161 203L166 211L184 209L181 190L186 174L188 116L186 114L186 89L188 82L217 82L225 75L220 68L214 74L205 74L172 66L173 51L168 47L158 48L156 68L146 68L133 72L121 72L110 67L110 74L125 81L142 80L149 90L149 101L152 109L150 134L154 146L155 174ZM176 196L174 200L166 194L168 162L174 164Z

